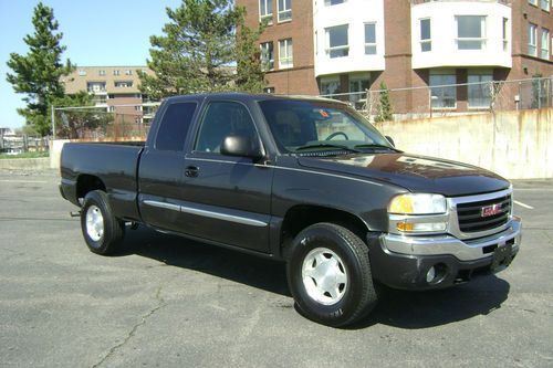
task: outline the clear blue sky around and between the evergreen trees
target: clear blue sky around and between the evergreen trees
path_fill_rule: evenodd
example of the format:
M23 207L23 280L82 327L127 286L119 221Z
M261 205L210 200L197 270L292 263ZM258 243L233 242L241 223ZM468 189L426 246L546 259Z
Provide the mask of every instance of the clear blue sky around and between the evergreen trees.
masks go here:
M44 0L54 9L67 46L63 61L81 66L145 65L149 57L149 36L161 34L167 23L166 7L177 8L180 0ZM15 94L6 81L11 52L27 54L23 36L33 33L33 8L39 1L0 0L0 127L24 124L17 108L23 95Z

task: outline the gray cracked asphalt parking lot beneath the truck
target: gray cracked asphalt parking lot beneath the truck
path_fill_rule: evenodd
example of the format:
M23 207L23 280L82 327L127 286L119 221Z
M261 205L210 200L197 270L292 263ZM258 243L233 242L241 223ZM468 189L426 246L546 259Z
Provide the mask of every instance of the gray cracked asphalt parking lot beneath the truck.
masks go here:
M0 366L553 367L553 181L514 182L511 267L351 329L298 314L281 263L147 229L88 252L58 181L0 171Z

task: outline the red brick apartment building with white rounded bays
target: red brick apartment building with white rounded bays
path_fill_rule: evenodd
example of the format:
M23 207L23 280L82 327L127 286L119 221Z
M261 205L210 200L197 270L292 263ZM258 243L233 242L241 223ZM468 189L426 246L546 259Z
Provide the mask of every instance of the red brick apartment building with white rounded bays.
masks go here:
M337 94L553 76L550 0L237 0L262 19L268 92ZM489 107L478 85L406 92L398 113ZM356 96L348 97L355 102Z

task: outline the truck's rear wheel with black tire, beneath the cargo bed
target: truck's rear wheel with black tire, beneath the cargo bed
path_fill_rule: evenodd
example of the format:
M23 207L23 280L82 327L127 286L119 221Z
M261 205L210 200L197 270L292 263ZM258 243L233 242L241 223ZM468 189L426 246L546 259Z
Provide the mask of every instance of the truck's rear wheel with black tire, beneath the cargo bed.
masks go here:
M81 230L91 252L113 254L125 236L125 224L113 215L107 194L93 190L84 197Z

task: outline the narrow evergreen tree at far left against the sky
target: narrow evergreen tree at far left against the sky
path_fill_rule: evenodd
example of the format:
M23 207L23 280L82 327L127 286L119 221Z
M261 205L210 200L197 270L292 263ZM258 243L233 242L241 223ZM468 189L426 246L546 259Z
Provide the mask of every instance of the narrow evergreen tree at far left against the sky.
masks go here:
M23 97L27 107L19 108L18 113L25 118L27 124L45 136L51 132L49 106L53 98L64 95L60 76L70 73L73 66L70 61L65 65L61 62L66 48L60 44L63 33L56 32L59 23L52 8L39 2L32 23L34 33L23 39L29 45L29 53L10 54L8 66L13 74L8 73L7 81L13 85L15 93L27 95Z

